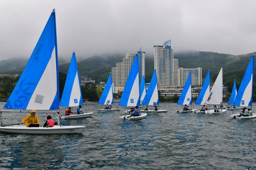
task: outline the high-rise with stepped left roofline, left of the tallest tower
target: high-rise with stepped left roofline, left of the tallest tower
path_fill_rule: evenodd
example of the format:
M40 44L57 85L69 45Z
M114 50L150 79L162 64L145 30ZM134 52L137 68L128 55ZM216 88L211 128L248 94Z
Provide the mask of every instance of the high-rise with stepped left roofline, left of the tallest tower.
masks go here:
M125 58L122 59L122 63L116 63L116 67L111 68L112 83L115 86L124 87L136 54L138 54L139 80L141 82L142 76L145 75L145 52L141 51L140 48L136 53L126 53Z

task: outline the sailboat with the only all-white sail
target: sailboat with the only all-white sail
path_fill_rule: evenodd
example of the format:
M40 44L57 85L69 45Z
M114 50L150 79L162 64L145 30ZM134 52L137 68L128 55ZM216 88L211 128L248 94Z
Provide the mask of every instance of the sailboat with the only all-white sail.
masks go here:
M212 89L210 91L210 94L208 94L208 99L206 100L205 104L207 105L219 105L222 103L222 95L223 95L223 89L222 89L222 68L220 69L220 72L218 74L218 77L216 78L214 85L212 86ZM226 112L227 109L220 109L219 112L214 112L214 109L208 110L208 114L219 114Z

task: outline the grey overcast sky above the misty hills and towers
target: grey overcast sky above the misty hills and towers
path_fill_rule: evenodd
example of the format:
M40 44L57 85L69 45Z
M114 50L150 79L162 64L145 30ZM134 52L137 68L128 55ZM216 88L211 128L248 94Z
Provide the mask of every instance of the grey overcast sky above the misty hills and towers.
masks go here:
M256 51L256 0L0 0L0 60L30 57L53 8L59 57Z

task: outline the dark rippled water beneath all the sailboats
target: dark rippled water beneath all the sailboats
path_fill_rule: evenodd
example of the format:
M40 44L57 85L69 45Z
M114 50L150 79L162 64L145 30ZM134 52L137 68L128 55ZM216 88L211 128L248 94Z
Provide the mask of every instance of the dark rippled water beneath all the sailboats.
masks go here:
M60 121L84 125L81 134L0 133L0 169L256 169L256 119L231 119L232 111L176 113L176 104L161 105L168 113L124 121L119 112L100 113L86 103L92 117ZM2 121L20 123L26 115L2 113ZM37 115L43 125L46 113Z

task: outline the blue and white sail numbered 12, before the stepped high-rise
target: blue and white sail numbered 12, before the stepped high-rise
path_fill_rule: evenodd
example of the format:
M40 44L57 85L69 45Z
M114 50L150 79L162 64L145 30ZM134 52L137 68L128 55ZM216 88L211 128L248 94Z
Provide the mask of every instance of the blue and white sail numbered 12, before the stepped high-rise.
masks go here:
M140 82L138 54L135 55L124 91L119 101L119 106L140 106Z

